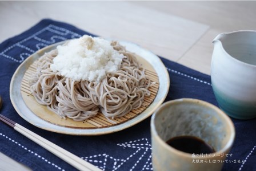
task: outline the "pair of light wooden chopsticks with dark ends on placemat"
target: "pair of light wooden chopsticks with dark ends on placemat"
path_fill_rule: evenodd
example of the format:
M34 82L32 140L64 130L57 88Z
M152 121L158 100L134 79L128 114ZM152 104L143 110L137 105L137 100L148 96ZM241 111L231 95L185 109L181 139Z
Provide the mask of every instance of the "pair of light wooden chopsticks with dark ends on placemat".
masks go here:
M44 139L43 137L37 135L36 133L30 131L25 127L22 127L21 125L15 123L14 121L8 119L7 117L1 114L0 120L8 124L10 127L13 127L16 131L26 136L30 140L34 141L38 145L41 145L43 148L49 150L49 152L55 154L62 160L74 166L74 168L77 168L78 170L101 170L96 166L90 164L89 162L82 160L82 158L79 158L78 156L75 156L73 153L70 153L67 150L61 148L60 146L51 143L51 141Z

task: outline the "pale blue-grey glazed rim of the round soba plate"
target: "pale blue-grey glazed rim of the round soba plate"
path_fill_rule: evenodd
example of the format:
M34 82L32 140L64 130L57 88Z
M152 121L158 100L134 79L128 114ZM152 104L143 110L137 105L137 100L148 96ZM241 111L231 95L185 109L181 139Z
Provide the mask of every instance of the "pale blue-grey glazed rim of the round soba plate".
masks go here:
M151 111L147 111L147 109L145 109L145 111L140 113L138 116L134 117L131 120L127 120L125 123L114 125L114 126L111 126L111 127L95 128L95 129L67 128L67 127L63 127L63 126L60 126L60 125L55 125L55 124L49 123L49 122L39 118L37 115L35 115L33 112L31 112L31 110L27 107L27 105L25 104L25 102L22 98L22 95L21 95L21 80L22 80L22 78L23 78L23 76L24 76L24 74L27 70L27 68L25 68L25 66L30 61L32 61L32 63L33 63L35 60L37 60L42 55L42 53L49 52L53 48L57 47L59 44L63 44L66 41L67 40L51 44L49 46L46 46L46 47L42 48L41 50L38 50L37 52L35 52L33 54L31 54L29 57L27 57L18 66L18 68L15 70L15 72L14 72L12 78L11 78L11 82L10 82L10 100L11 100L11 103L13 104L13 107L14 107L15 111L18 113L18 115L21 116L28 123L33 124L35 127L45 129L46 131L57 132L57 133L62 133L62 134L66 134L66 135L78 135L78 136L106 135L106 134L109 134L109 133L114 133L114 132L122 131L123 129L130 128L133 125L136 125L136 124L140 123L141 121L147 119L148 117L150 117L154 113L154 111L166 99L166 96L167 96L167 93L168 93L169 87L170 87L170 78L169 78L169 72L167 72L167 69L166 69L165 65L163 64L162 60L157 55L155 55L153 52L151 52L149 50L146 50L145 48L142 48L138 44L119 40L118 42L122 45L125 45L126 49L127 49L127 46L131 46L134 49L141 50L142 52L146 52L147 54L149 54L151 56L154 56L155 60L157 60L157 62L159 63L159 65L162 68L161 75L159 75L160 73L156 70L154 65L151 64L147 58L144 58L142 55L140 55L143 59L147 60L147 62L149 62L154 67L154 70L158 75L158 81L159 81L158 92L159 92L160 89L161 89L161 91L165 91L164 94L161 96L161 99L158 100L158 102L157 102L158 104ZM131 50L129 50L129 51L131 51ZM163 73L163 71L164 71L164 73ZM21 75L20 76L21 80L19 80L18 75ZM161 83L162 82L161 78L163 78L163 75L165 75L165 78L166 78L165 83ZM17 83L17 84L15 84L15 83ZM163 85L163 84L165 84L165 85ZM15 87L18 87L18 88L15 88ZM157 99L158 96L159 96L159 93L157 93L157 95L155 96L155 99L153 100L152 103L155 102L155 100ZM21 99L20 100L15 100L15 97L21 97ZM17 98L17 99L19 99L19 98ZM23 106L19 107L18 104L17 104L17 101L21 101L21 103L23 102L25 104L25 106L23 105ZM150 105L149 105L149 107L150 107ZM37 117L38 120L41 120L41 121L35 121L36 119L31 119L31 117L29 118L26 115L24 115L23 112L22 112L22 107L25 108L25 109L28 109L31 113L33 113L33 115L35 115ZM38 122L41 122L41 125L38 124ZM42 123L44 123L45 125L42 125ZM60 129L49 128L49 127L47 127L48 124L52 125L53 127L59 127ZM63 131L63 129L66 129L66 130ZM72 131L69 131L70 129ZM76 130L76 132L74 132L75 130Z

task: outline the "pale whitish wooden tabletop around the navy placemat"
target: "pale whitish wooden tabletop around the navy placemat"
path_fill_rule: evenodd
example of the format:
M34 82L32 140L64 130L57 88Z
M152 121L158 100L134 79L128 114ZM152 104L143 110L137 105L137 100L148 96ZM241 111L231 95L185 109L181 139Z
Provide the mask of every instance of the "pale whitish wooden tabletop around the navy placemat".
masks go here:
M256 29L256 1L0 2L0 42L43 18L127 40L210 74L211 41L221 32ZM0 170L29 170L0 153Z

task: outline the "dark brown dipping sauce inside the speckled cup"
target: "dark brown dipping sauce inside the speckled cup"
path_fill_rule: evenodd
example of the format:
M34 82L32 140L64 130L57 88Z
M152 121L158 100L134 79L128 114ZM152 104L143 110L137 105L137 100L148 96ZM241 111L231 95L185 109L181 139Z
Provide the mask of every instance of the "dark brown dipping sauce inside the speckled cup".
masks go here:
M212 146L194 136L177 136L166 141L166 143L177 150L190 154L210 154L215 152Z

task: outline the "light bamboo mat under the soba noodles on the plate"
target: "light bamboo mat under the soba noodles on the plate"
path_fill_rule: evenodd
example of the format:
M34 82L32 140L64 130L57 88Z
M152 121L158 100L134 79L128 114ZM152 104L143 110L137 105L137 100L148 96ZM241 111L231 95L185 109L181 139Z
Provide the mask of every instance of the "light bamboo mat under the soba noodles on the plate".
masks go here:
M39 118L49 123L63 127L95 129L112 127L117 124L125 123L127 120L133 119L134 117L138 116L140 113L145 111L147 107L149 107L149 105L154 101L154 98L157 95L159 88L158 76L154 71L154 68L149 63L147 63L145 59L141 57L139 58L138 56L137 59L139 60L140 63L143 64L143 67L145 68L145 74L149 76L151 81L155 82L155 84L149 88L150 96L145 97L141 107L138 109L133 109L125 116L118 117L115 119L107 119L101 112L98 112L98 115L91 117L90 119L87 119L85 121L74 121L67 117L66 119L61 119L57 114L47 109L46 105L38 104L37 101L34 99L34 96L31 95L28 80L29 78L31 78L32 75L34 75L35 71L37 71L36 66L38 60L36 60L33 64L31 64L31 66L29 66L29 68L27 68L27 71L23 76L21 83L21 93L23 100L25 101L27 107ZM114 121L114 123L112 123L110 120Z

